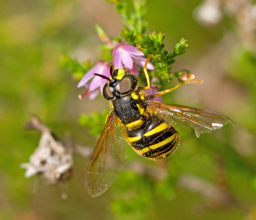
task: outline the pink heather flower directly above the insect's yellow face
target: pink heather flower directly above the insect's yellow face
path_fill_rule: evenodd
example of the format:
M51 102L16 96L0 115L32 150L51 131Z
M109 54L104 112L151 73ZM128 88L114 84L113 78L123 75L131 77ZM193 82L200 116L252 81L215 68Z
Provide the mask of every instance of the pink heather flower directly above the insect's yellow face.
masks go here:
M146 62L146 58L143 57L144 53L128 44L120 43L113 49L112 53L114 67L119 69L125 66L131 71L134 71L135 75L139 75L139 71L137 70L136 66L133 66L133 64L144 67ZM149 62L147 69L153 70L153 64Z

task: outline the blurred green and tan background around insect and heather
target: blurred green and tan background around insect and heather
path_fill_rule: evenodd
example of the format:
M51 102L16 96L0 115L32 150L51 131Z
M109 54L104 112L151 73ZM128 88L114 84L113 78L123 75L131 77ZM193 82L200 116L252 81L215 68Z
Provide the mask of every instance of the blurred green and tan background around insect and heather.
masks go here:
M150 31L166 34L168 50L182 37L188 39L189 48L173 71L186 68L204 80L176 90L164 102L221 112L235 127L228 124L200 138L177 127L180 147L167 159L165 179L124 170L97 198L84 189L88 159L74 155L66 200L61 199L62 185L25 178L19 168L41 135L23 126L36 114L57 135L70 131L76 143L95 146L97 137L78 118L101 112L107 102L101 95L80 101L77 95L84 90L76 88L77 82L58 63L63 54L95 63L102 44L95 24L117 36L122 18L102 0L0 2L0 219L256 219L255 5L211 2L221 4L215 23L196 18L201 0L148 0L146 21ZM127 163L134 161L163 166L127 147ZM220 200L209 196L212 187L222 189Z

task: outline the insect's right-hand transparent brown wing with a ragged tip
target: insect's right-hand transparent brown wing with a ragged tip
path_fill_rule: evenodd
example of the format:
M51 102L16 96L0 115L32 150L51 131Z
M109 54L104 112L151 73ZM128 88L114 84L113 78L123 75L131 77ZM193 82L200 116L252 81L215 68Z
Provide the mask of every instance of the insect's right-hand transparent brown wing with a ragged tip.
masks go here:
M171 124L179 124L187 130L194 128L196 137L200 137L202 133L220 129L228 122L234 125L231 119L214 111L155 101L148 101L148 104L150 109L161 113Z

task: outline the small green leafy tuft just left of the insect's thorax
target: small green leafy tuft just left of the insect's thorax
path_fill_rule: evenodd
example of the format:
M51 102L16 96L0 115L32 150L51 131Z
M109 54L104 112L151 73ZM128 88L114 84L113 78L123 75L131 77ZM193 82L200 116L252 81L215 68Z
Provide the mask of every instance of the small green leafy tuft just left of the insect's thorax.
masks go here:
M90 134L101 135L103 132L106 116L109 113L107 109L104 109L102 113L94 111L92 114L82 114L79 119L79 123L82 126L90 128Z

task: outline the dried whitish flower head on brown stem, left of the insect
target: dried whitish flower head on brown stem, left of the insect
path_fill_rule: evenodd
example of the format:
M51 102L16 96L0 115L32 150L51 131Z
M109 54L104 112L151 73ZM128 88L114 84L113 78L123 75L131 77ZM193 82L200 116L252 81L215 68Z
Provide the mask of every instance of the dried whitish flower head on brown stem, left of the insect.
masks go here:
M27 169L25 176L40 174L48 184L67 179L73 165L72 150L57 141L50 129L42 125L37 118L34 117L27 127L40 130L42 136L38 147L29 158L29 163L21 164L22 168Z

